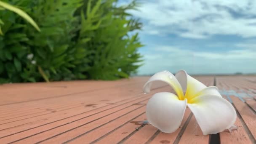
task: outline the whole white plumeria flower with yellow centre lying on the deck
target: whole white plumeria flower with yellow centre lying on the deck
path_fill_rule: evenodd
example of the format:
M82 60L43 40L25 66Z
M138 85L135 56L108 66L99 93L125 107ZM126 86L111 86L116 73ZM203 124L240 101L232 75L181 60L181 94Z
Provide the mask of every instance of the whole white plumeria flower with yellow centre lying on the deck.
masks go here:
M156 80L168 83L177 94L176 96L169 92L155 93L148 101L147 119L160 131L176 131L187 106L195 115L203 135L219 133L235 123L235 109L229 101L221 97L217 87L206 87L187 75L184 70L177 72L175 76L171 72L163 71L156 73L147 81L144 93L150 92L152 81Z

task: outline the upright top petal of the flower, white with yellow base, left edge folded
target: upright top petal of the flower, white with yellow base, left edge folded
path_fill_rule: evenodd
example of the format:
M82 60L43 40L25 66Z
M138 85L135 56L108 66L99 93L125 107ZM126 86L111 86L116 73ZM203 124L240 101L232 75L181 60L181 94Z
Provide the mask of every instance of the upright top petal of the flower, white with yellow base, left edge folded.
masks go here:
M191 99L198 92L202 91L206 86L195 78L187 75L187 72L184 70L180 70L176 73L175 77L179 80L181 87L183 90L186 90L185 98Z

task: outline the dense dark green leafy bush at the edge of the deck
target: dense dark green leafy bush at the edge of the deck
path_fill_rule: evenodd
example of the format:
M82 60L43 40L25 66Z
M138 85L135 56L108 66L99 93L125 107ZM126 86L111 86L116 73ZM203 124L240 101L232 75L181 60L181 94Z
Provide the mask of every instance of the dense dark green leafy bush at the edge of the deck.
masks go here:
M126 10L133 1L1 0L22 9L21 16L0 7L0 83L54 80L116 80L140 66L141 23ZM131 33L132 32L132 33Z

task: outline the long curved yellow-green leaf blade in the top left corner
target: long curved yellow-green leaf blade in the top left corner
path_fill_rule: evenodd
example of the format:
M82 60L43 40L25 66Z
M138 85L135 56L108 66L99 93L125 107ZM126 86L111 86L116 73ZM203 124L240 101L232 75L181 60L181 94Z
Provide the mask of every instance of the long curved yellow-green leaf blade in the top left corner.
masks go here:
M37 24L35 23L35 21L27 13L25 13L21 9L16 8L15 6L10 5L8 3L5 3L5 2L2 2L2 1L0 1L0 6L2 6L3 8L8 9L10 11L13 11L14 13L19 14L21 17L26 19L30 24L32 24L32 26L34 26L40 32L40 29L37 26Z

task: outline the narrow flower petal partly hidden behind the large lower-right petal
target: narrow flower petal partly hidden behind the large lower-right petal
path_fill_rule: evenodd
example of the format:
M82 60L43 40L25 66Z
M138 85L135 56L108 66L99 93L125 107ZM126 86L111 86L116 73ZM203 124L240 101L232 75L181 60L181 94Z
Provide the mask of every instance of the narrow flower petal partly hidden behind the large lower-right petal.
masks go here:
M193 99L197 96L207 96L207 95L222 97L221 94L219 93L219 89L216 86L209 86L209 87L204 88L202 91L199 91L194 96L190 96L188 103L191 104L193 102Z

